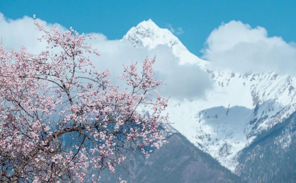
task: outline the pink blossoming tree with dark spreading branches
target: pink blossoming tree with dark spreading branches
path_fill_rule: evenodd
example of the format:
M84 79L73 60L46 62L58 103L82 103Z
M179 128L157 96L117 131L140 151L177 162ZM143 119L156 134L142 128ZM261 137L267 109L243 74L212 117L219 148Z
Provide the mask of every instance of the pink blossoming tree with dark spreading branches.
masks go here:
M6 51L0 45L0 181L97 182L99 172L125 160L124 152L159 148L166 143L160 126L168 98L155 87L155 58L124 67L128 89L110 84L109 70L94 69L85 43L91 35L45 30L48 47L38 55L25 47ZM150 92L150 93L149 93ZM152 98L155 93L155 98ZM149 111L146 115L140 108Z

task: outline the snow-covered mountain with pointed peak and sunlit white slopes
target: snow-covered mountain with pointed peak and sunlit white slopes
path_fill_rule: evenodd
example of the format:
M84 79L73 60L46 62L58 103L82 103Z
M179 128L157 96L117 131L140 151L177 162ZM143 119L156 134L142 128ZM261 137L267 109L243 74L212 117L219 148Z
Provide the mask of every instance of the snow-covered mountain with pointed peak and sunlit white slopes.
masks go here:
M203 98L171 99L168 113L174 128L233 172L242 149L296 111L295 77L215 68L190 53L175 35L151 19L132 27L123 39L150 49L166 45L180 64L197 64L215 81Z

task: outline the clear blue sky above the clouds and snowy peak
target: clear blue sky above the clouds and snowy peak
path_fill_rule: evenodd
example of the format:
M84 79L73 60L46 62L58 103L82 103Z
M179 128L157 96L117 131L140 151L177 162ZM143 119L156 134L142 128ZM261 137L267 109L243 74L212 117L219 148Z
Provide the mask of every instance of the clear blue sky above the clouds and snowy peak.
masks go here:
M182 43L201 56L206 38L221 22L241 20L262 26L269 36L296 41L296 1L0 1L0 12L11 19L24 15L73 26L79 32L103 33L120 39L132 27L151 18L158 26L184 33Z

